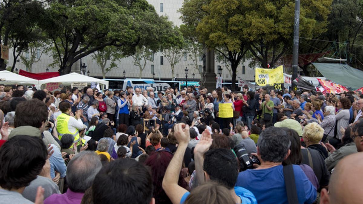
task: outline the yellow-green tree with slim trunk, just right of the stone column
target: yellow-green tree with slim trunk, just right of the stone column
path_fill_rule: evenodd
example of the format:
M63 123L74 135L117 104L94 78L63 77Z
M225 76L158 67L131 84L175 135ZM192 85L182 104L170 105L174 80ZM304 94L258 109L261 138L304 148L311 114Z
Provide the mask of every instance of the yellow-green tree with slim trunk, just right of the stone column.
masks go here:
M238 0L198 2L195 0L194 3L192 1L183 5L182 19L187 20L184 23L189 26L197 25L195 31L199 42L209 48L214 48L229 61L232 70L232 90L235 90L237 67L248 50L241 32L243 26L238 25L240 13L244 11L244 7ZM203 9L203 16L196 14L198 11L191 12L192 8L184 8L189 5L201 6L198 9ZM188 14L188 11L191 15Z

